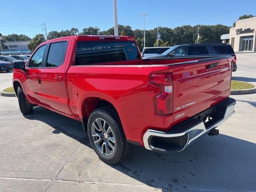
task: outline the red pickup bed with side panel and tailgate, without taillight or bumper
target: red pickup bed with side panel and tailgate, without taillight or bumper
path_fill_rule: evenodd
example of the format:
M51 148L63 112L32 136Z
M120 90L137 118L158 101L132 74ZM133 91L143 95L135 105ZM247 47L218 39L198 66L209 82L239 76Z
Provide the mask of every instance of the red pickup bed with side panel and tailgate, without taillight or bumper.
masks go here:
M90 98L98 92L103 100L110 101L116 108L126 138L143 145L142 134L147 127L170 130L173 125L228 98L231 60L230 56L186 57L71 66L67 72L68 91L72 95L70 90L76 86L82 98ZM216 66L207 69L211 64ZM162 117L154 112L153 101L159 88L148 83L153 73L172 74L171 115ZM81 103L72 102L71 98L71 110L82 114ZM138 135L138 132L142 134Z

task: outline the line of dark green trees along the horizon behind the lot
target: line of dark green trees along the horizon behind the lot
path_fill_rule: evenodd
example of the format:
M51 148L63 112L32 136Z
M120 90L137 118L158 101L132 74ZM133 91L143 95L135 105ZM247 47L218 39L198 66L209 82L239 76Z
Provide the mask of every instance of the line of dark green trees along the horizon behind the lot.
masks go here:
M254 17L253 15L243 15L238 20ZM235 26L235 23L233 24ZM217 25L183 25L176 28L160 27L158 31L161 33L161 39L159 40L159 46L174 46L179 44L189 44L197 42L197 32L199 29L200 38L199 43L220 43L220 36L222 34L228 34L230 26ZM118 25L118 32L121 36L134 36L136 42L142 50L144 47L144 30L135 29L132 30L131 26ZM98 27L83 28L79 32L77 28L71 28L70 30L51 31L47 35L47 39L54 39L64 36L73 35L114 35L114 27L108 30L100 30ZM157 46L157 28L145 31L146 47ZM18 40L30 40L26 35L11 34L3 36L3 42L5 41L18 41ZM28 44L30 50L34 50L38 44L45 41L43 34L37 34L31 42Z

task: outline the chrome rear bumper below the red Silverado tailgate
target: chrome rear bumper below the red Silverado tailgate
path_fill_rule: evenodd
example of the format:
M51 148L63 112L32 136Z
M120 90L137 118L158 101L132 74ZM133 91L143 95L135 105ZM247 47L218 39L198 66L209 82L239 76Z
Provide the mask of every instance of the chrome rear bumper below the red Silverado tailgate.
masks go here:
M182 151L200 136L207 134L232 116L235 104L236 100L227 98L204 112L173 126L168 132L147 130L143 136L144 146L148 150L160 152ZM202 117L208 115L211 119L204 123Z

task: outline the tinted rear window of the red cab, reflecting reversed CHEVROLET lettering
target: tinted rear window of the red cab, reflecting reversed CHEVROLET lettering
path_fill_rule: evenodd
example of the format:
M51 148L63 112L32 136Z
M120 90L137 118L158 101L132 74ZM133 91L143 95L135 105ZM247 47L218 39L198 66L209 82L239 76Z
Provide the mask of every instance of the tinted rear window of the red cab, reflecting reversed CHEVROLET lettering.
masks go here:
M78 41L75 65L140 59L134 41Z

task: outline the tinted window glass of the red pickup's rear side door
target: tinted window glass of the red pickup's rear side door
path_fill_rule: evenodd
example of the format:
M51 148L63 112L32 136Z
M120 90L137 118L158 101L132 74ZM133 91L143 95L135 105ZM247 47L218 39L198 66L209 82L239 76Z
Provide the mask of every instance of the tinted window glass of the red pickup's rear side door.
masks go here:
M67 42L58 42L50 44L46 67L58 67L65 58Z

